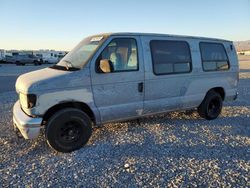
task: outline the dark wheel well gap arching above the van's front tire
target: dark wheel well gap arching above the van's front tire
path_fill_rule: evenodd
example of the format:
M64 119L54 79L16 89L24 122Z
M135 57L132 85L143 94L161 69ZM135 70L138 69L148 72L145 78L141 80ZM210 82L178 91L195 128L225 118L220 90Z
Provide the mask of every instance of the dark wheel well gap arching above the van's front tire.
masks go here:
M57 111L64 109L64 108L77 108L79 110L82 110L95 123L95 115L93 111L87 104L82 103L82 102L65 102L65 103L60 103L51 107L45 112L43 116L43 123L46 123L53 114L55 114Z

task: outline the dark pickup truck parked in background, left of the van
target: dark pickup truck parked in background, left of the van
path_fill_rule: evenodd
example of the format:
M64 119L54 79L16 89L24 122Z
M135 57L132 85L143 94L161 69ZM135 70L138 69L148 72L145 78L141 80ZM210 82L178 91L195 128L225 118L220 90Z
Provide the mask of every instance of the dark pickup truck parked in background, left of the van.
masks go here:
M42 59L32 54L18 54L10 57L6 62L15 63L16 65L41 65Z

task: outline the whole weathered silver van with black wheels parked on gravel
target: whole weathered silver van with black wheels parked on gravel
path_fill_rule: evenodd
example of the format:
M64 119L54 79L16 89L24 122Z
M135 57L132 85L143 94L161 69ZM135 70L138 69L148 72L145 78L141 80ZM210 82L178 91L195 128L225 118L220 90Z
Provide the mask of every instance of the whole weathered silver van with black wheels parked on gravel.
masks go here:
M45 128L53 149L71 152L88 142L95 124L191 108L215 119L224 101L237 98L238 81L231 41L100 34L58 64L17 79L13 122L25 139Z

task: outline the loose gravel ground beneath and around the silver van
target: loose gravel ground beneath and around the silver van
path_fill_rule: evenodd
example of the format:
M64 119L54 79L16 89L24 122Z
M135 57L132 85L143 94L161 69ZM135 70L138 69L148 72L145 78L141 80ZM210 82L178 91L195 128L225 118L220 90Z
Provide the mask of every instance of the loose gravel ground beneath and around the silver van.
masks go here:
M250 63L241 64L239 98L221 116L172 112L95 128L82 149L52 151L41 135L12 130L14 92L0 94L0 185L250 187Z

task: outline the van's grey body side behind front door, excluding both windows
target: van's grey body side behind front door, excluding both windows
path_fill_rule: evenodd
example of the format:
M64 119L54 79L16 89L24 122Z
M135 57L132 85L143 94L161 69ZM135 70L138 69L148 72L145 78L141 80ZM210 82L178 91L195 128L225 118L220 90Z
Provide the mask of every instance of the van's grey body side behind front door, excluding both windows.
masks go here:
M206 93L215 87L225 91L225 100L232 100L237 92L238 61L231 42L219 42L225 46L230 61L226 71L205 72L202 68L200 39L180 37L142 36L143 57L145 62L145 100L144 114L181 110L198 107ZM151 40L175 40L188 42L192 57L190 73L155 75L150 50ZM217 42L218 41L205 41Z

